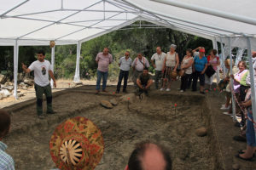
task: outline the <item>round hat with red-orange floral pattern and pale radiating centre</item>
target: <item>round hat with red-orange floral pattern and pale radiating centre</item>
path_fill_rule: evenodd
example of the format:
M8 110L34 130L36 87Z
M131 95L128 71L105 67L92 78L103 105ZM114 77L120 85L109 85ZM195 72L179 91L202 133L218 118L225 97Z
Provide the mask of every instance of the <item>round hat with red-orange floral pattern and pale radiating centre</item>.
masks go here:
M85 117L74 117L55 128L49 152L61 170L93 170L104 150L102 132Z

